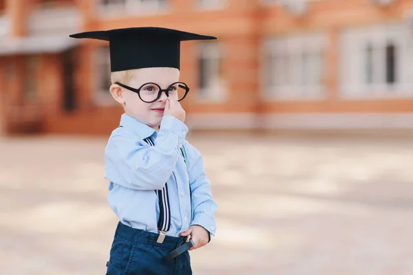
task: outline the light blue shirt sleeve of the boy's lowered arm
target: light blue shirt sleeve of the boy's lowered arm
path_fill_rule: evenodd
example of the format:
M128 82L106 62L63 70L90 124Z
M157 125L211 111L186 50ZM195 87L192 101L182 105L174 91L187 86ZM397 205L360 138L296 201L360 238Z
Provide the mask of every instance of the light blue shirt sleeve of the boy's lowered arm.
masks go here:
M189 142L185 148L188 156L188 175L192 189L193 220L191 225L201 225L215 236L216 224L214 213L218 205L211 192L211 183L204 171L204 162L200 152Z

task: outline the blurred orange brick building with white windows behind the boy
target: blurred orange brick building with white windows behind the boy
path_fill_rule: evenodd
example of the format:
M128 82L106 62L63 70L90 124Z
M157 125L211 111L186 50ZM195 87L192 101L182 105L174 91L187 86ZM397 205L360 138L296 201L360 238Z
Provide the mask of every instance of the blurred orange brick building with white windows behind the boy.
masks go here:
M413 125L413 0L0 0L3 133L109 133L106 43L69 34L162 26L182 43L192 129Z

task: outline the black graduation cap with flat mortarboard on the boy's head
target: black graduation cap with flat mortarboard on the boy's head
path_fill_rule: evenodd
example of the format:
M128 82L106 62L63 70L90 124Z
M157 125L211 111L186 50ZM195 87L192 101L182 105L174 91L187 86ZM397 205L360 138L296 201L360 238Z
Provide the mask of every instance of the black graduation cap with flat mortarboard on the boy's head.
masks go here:
M81 32L70 37L109 41L111 72L147 67L180 69L180 41L216 39L157 27Z

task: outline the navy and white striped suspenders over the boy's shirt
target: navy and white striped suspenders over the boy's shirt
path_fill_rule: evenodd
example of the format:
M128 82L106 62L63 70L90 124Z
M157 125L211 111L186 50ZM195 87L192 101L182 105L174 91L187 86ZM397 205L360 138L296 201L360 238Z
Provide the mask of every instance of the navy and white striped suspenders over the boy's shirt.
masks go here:
M155 146L153 141L147 137L145 138L145 142L150 146ZM184 149L184 146L180 148L180 153L184 158L185 164L187 164L187 153ZM173 174L175 177L175 174ZM191 190L191 185L189 185ZM165 239L165 234L171 228L171 209L169 208L169 195L168 195L168 186L165 183L165 186L162 190L155 190L158 195L158 203L159 203L159 219L158 219L158 232L159 237L156 240L158 243L162 243ZM192 203L192 192L191 192L191 203Z

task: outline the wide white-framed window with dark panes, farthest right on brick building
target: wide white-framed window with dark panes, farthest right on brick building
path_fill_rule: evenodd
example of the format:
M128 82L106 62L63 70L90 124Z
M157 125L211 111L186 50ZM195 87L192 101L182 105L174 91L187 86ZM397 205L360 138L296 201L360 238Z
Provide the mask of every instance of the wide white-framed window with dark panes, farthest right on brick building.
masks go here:
M340 93L352 98L413 96L413 40L407 32L401 24L345 30L340 38Z

